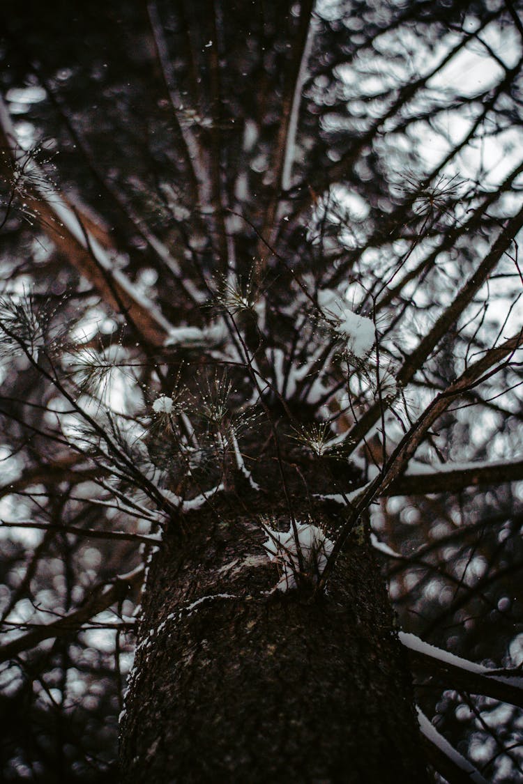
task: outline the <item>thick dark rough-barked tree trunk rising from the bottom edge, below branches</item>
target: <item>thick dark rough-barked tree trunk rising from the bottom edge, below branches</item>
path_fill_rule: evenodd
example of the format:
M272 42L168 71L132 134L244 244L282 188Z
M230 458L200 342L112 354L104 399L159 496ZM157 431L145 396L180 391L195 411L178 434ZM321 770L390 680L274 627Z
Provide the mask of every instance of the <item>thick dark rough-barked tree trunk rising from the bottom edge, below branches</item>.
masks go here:
M368 543L323 596L271 591L260 494L192 512L143 595L124 782L424 782L410 673ZM289 520L289 515L272 521ZM325 504L307 512L332 530ZM288 528L288 523L284 524ZM190 535L189 535L190 533Z

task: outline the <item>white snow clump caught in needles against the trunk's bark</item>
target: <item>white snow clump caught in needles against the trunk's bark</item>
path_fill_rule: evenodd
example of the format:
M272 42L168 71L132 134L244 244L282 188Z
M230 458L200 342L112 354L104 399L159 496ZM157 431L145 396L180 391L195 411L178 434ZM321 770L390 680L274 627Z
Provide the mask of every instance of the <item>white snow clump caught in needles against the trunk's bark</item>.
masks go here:
M334 543L328 539L321 528L312 523L296 521L296 534L292 528L289 531L272 531L265 527L268 538L263 543L267 555L278 564L281 578L276 586L285 593L297 587L296 575L300 574L300 551L303 564L303 577L318 583L318 580L327 565L327 559L332 553ZM297 541L296 541L297 539Z

